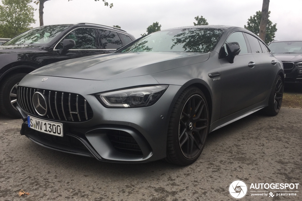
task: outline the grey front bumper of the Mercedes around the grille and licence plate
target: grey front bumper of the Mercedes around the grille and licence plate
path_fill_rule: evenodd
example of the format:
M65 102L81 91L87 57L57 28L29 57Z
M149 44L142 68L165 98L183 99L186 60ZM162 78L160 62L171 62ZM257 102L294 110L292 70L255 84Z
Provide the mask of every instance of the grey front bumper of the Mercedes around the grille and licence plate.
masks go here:
M39 81L43 78L43 76L30 77L31 80L39 77ZM74 83L73 81L75 81L74 79L71 81L71 78L58 79L60 79L61 83L62 81L65 83ZM85 82L85 80L79 79L76 81L79 88L80 85L84 85L84 83L81 82ZM145 81L152 82L150 79L148 80L146 78ZM29 83L31 82L22 80L20 85L26 87L37 87L35 84ZM135 85L133 83L127 84L132 86ZM151 83L147 84L150 85ZM158 83L153 81L153 84L156 85ZM95 157L101 161L147 162L156 161L166 157L166 140L169 117L177 97L183 90L182 86L169 85L165 93L154 105L141 108L106 108L97 100L94 94L87 93L90 91L75 90L76 87L77 86L69 86L69 84L67 84L64 86L64 91L78 93L85 97L93 111L93 117L91 120L85 122L51 120L63 123L64 133L62 138L37 132L28 128L27 115L40 119L43 119L43 117L41 118L41 116L30 114L18 107L24 118L21 135L27 136L33 142L44 147L78 155ZM125 86L125 88L126 87L128 86ZM39 88L49 90L59 89L51 84L47 86L39 86ZM102 91L108 90L98 89L95 93Z

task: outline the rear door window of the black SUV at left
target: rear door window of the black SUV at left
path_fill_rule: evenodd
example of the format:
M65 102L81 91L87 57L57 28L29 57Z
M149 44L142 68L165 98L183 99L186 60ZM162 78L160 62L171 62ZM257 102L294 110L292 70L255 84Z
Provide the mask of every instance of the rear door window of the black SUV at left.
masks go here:
M101 37L103 49L117 49L122 46L122 41L115 31L98 29L98 35Z

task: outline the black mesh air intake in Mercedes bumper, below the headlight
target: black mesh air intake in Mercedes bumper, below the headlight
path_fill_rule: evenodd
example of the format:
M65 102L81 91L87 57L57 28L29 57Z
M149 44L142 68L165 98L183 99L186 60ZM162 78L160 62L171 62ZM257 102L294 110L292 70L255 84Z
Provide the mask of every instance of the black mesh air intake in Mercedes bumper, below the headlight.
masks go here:
M118 152L143 155L143 152L136 140L125 131L110 130L110 132L108 132L108 138Z

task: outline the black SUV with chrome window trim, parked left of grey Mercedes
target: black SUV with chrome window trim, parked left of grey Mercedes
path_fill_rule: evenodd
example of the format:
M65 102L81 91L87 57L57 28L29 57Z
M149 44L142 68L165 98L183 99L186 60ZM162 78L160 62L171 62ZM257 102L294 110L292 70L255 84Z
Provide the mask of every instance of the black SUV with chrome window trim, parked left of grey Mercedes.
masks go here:
M31 71L66 59L113 53L133 40L125 30L84 22L42 26L19 34L0 46L1 113L20 116L17 87Z

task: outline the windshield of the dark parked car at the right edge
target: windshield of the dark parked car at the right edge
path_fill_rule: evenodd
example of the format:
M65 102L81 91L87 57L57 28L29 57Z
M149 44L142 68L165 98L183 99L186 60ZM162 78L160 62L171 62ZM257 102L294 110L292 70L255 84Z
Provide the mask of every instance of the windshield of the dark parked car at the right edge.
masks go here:
M268 47L272 53L302 53L302 41L274 42Z

